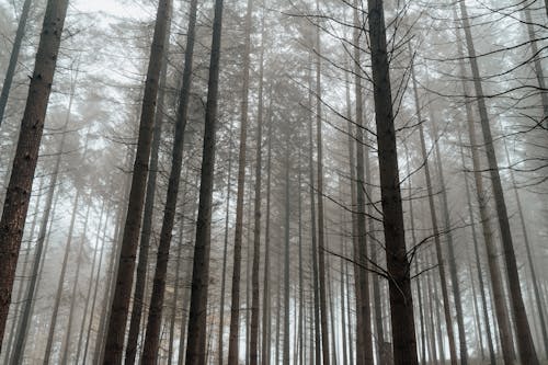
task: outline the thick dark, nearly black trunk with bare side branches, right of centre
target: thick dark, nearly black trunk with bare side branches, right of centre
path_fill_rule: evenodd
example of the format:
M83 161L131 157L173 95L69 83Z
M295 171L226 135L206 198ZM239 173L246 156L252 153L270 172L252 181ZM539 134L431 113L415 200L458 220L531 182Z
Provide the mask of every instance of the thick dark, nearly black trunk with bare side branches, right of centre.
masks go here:
M383 0L368 0L372 70L377 122L383 224L390 275L390 310L395 364L416 365L413 299L410 264L406 249L403 210L398 175L390 72L386 45Z

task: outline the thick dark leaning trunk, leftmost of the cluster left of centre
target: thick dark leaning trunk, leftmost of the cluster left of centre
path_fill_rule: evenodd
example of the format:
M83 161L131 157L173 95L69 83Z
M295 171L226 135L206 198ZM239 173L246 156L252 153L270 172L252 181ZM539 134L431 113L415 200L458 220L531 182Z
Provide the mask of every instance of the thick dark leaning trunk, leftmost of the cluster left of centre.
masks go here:
M132 187L127 206L116 285L106 331L103 364L121 364L126 334L126 322L132 295L135 259L142 220L142 206L147 184L152 134L155 126L158 79L164 57L167 27L170 24L171 0L160 0L156 15L155 34L142 95L137 152L132 176Z

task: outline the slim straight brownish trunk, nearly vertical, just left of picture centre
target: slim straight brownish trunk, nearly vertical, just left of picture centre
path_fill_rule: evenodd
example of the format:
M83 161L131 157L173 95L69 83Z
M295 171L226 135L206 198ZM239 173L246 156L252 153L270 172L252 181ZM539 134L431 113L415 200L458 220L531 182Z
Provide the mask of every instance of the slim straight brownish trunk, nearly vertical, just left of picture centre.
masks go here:
M256 116L255 137L255 192L254 192L254 226L253 226L253 267L251 273L251 332L250 332L250 365L259 364L259 265L261 261L261 173L263 144L263 78L264 78L264 18L261 32L261 55L259 58L259 110ZM300 187L300 186L299 186ZM300 194L299 194L300 196ZM300 227L300 226L299 226Z

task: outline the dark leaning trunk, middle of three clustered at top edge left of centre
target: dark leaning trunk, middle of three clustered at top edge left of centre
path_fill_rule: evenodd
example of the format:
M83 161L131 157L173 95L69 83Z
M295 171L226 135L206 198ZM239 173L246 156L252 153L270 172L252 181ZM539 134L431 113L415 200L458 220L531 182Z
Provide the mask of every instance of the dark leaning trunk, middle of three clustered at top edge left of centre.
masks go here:
M189 32L184 57L183 84L179 95L179 109L175 123L175 139L171 160L171 172L168 182L168 194L165 196L165 208L158 244L158 255L150 297L148 313L147 334L142 351L142 361L147 364L155 362L158 354L160 326L162 321L163 296L165 292L165 275L170 253L171 236L175 220L175 209L179 195L179 183L181 180L181 168L183 162L183 142L186 128L189 98L192 82L192 58L194 54L194 34L196 24L197 0L191 1Z

